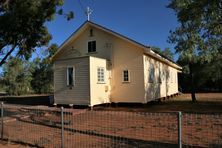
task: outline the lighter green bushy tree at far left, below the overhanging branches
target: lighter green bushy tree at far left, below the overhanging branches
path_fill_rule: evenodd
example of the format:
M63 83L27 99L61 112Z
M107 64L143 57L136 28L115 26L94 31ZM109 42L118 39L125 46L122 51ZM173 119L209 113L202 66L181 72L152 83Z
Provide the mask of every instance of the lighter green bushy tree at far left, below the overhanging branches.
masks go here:
M9 95L22 95L31 92L31 69L28 61L10 57L3 66L3 83Z

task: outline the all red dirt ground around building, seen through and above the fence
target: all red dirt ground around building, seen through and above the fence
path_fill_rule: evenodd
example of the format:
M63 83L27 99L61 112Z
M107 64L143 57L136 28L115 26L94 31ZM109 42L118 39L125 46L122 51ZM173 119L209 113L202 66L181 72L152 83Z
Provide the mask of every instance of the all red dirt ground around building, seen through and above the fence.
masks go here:
M65 109L65 147L177 147L175 111L183 111L184 145L222 147L222 94L197 94L198 102L190 100L189 94L183 94L142 106ZM4 138L8 141L61 147L58 108L8 106L5 113Z

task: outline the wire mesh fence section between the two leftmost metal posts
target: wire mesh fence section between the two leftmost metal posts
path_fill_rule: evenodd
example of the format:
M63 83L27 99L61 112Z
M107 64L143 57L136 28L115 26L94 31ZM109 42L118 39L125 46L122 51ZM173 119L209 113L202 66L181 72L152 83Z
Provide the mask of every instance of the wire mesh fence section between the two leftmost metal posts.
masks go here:
M38 147L60 147L60 127L59 109L4 105L2 139Z

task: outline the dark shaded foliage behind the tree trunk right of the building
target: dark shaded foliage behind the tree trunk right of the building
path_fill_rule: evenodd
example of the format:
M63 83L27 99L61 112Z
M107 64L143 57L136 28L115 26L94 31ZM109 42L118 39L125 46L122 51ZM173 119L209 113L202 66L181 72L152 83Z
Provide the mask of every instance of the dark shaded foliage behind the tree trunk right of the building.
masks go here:
M216 91L222 92L222 54L212 55L213 60L208 62L196 62L193 64L195 71L194 86L197 92L203 91ZM183 66L183 73L181 75L180 87L184 92L190 92L191 86L189 85L189 66L186 59L182 57L178 59L178 63Z

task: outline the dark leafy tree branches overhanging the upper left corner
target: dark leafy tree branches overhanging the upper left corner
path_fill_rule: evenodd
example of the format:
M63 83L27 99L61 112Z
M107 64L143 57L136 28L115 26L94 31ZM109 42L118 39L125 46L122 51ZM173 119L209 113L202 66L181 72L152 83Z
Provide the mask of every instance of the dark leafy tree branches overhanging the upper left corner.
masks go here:
M45 22L51 21L63 0L1 0L0 1L0 66L9 56L28 59L36 47L51 39ZM67 20L73 13L64 14ZM12 54L14 53L14 54Z

